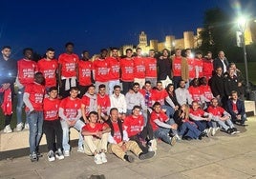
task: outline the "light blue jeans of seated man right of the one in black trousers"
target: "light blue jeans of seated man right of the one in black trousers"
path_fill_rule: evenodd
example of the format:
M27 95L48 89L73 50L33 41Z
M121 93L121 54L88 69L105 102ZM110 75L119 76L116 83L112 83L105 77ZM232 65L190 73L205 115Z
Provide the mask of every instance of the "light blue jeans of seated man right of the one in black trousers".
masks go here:
M71 147L69 145L70 128L75 128L77 131L79 131L78 148L82 148L83 136L81 134L81 130L85 124L81 120L77 120L74 127L70 127L65 120L60 120L60 124L61 124L62 130L63 130L62 146L63 146L64 151L71 149Z

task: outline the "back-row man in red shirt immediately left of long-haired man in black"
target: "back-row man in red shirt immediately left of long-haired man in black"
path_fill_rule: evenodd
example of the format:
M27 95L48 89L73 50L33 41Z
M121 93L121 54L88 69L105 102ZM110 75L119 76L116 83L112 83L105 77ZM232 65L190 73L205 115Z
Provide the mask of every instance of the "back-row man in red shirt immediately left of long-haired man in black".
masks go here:
M155 87L158 80L157 59L155 50L149 50L149 57L145 58L145 81L150 81Z

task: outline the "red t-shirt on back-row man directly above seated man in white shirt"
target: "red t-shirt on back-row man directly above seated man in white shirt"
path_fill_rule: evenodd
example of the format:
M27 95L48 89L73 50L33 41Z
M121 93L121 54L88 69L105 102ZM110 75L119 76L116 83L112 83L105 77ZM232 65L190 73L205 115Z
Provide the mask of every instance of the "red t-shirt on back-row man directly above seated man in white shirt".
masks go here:
M120 76L120 63L119 58L108 57L106 59L109 68L109 80L118 80Z

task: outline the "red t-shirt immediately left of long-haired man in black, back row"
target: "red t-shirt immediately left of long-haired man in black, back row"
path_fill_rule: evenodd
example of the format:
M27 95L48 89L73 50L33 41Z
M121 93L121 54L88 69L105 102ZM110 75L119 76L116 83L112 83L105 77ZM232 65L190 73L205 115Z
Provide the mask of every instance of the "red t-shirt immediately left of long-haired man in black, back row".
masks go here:
M157 59L148 57L145 59L145 77L156 78L157 77Z

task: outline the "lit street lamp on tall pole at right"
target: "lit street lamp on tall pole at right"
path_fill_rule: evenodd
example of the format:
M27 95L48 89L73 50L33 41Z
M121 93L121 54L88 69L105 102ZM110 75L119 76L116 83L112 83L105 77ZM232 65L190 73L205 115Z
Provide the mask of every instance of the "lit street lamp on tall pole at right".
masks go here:
M250 89L249 89L249 80L248 80L247 53L246 53L246 49L245 49L245 29L246 29L245 17L240 17L238 19L238 29L240 31L240 40L241 40L241 44L242 44L243 50L244 50L245 77L246 77L245 91L246 91L246 94L248 94L250 92Z

